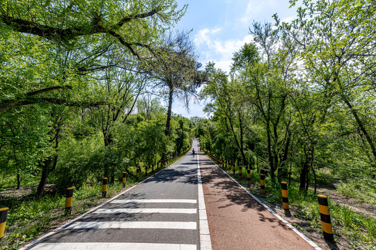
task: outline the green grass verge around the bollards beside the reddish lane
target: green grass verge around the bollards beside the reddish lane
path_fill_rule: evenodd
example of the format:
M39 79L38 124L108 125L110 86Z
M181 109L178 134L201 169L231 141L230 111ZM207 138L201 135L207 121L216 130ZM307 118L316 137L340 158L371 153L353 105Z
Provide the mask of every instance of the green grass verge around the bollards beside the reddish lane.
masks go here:
M219 165L219 164L218 164ZM241 185L246 187L246 172L242 171L242 179L239 178L239 172L236 168L236 174L233 175L233 170L227 171L233 178L235 178ZM327 176L327 174L322 174ZM281 184L273 183L269 177L265 179L265 192L260 194L260 174L251 171L251 187L249 191L255 196L265 199L269 203L275 205L282 205ZM351 184L351 183L350 183ZM359 185L359 183L357 184ZM376 199L376 190L373 190L372 183L368 183L368 193L366 194L367 201L374 203ZM341 187L341 186L340 186ZM349 197L357 197L361 192L359 187L349 184L343 184L341 192L347 192ZM357 189L358 188L358 189ZM360 187L361 188L361 187ZM348 192L352 193L348 193ZM365 197L363 197L365 198ZM299 184L292 181L288 186L288 199L290 206L295 208L293 216L301 219L301 224L294 224L299 231L316 232L322 234L320 210L318 208L318 197L313 191L308 190L307 193L299 192ZM365 201L366 199L362 199ZM376 219L370 216L365 216L354 212L345 206L331 203L329 197L329 210L331 213L331 223L334 231L334 238L338 240L346 240L353 249L376 249Z

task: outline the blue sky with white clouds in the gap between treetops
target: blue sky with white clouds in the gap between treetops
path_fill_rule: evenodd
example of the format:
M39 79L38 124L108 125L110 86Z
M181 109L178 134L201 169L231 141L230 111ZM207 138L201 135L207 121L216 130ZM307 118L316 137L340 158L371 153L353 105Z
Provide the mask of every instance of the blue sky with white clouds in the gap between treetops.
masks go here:
M180 8L188 4L187 12L176 25L178 31L191 31L198 61L214 62L228 72L233 53L253 40L249 27L255 22L272 22L275 13L282 21L296 17L288 0L178 0ZM189 113L179 100L173 103L173 113L184 117L205 117L205 102L190 103Z

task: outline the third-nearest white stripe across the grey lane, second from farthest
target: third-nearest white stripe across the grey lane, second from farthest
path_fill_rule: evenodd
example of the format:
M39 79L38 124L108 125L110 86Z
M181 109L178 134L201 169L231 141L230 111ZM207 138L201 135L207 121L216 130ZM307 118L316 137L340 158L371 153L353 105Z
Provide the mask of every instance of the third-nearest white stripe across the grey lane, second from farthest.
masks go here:
M97 209L93 213L197 213L196 208L112 208Z

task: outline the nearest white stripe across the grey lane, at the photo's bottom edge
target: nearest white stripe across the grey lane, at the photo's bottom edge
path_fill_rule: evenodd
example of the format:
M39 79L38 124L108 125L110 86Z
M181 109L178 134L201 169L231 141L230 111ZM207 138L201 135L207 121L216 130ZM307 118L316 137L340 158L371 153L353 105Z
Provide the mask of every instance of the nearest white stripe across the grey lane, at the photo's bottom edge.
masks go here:
M158 244L158 243L132 243L132 242L64 242L64 243L40 243L33 250L65 250L65 249L127 249L127 250L196 250L194 244Z

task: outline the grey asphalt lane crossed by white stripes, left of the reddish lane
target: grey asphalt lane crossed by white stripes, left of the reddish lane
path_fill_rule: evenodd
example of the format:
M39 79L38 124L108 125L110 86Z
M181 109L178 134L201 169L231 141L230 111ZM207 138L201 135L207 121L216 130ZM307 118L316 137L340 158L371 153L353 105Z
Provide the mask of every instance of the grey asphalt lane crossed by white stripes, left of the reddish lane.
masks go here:
M211 249L197 160L190 151L31 249Z

